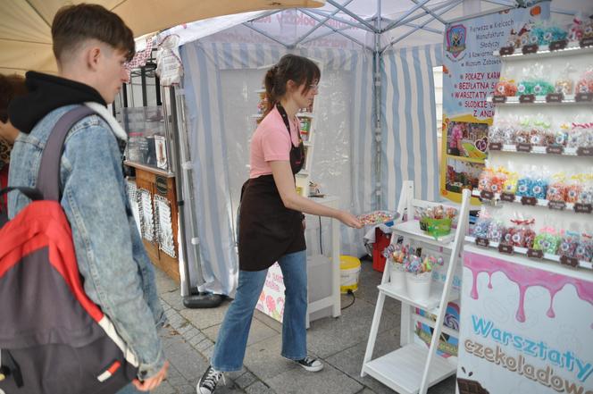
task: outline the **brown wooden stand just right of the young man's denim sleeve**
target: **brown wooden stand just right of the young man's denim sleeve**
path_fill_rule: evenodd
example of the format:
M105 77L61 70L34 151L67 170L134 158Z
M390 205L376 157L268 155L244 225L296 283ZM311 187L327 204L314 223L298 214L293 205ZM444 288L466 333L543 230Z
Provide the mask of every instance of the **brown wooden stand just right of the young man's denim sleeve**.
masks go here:
M175 244L176 256L179 256L179 243L177 239L179 222L177 221L177 195L175 192L175 176L170 172L165 172L146 165L126 161L124 164L136 169L136 184L138 189L146 189L150 192L151 201L154 202L155 196L165 197L171 206L171 225L173 233L173 242ZM153 203L154 204L154 203ZM146 247L146 252L150 260L159 267L171 279L180 282L180 263L179 257L171 257L160 249L158 241L142 239Z

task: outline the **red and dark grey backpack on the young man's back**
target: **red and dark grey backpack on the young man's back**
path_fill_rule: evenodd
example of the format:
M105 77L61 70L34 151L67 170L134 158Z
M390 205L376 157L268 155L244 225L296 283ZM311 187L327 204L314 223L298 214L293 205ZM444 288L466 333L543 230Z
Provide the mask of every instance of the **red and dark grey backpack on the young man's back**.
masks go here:
M60 157L71 127L95 114L79 106L54 126L33 200L0 229L0 394L110 394L138 360L85 294L70 224L59 203Z

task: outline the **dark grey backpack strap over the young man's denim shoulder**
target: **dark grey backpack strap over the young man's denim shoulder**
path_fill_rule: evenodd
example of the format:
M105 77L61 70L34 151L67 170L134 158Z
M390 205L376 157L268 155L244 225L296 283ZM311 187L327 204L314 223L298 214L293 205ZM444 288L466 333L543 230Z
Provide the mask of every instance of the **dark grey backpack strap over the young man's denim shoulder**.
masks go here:
M44 199L60 200L60 159L63 153L63 143L72 126L92 114L98 115L88 106L80 105L64 113L55 123L39 164L37 188L43 193Z

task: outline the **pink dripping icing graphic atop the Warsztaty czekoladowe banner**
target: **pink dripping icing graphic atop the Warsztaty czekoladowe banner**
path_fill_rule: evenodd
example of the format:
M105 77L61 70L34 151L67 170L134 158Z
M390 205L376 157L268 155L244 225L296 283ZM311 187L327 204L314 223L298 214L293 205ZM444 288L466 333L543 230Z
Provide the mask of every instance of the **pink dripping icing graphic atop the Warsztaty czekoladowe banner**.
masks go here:
M547 309L547 316L555 317L554 298L558 291L567 284L572 284L583 301L589 302L593 306L593 283L581 281L577 278L561 275L558 273L547 272L536 268L526 267L521 264L513 264L494 257L478 255L472 252L465 252L464 266L472 271L472 292L471 297L478 299L477 280L480 272L486 272L489 275L488 288L492 289L492 274L502 272L509 281L513 281L519 287L519 306L515 318L519 322L525 322L525 292L533 286L540 286L550 293L550 305ZM593 329L593 324L591 325Z

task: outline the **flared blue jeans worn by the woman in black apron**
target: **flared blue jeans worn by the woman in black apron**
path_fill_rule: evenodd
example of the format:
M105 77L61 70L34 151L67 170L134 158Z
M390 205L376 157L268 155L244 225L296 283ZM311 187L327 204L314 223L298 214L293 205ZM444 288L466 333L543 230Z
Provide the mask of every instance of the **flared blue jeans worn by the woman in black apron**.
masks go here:
M291 360L300 360L307 355L306 251L282 256L278 264L280 264L286 287L281 355ZM267 269L238 272L237 294L224 316L210 362L215 370L231 372L241 369L251 319L267 273Z

